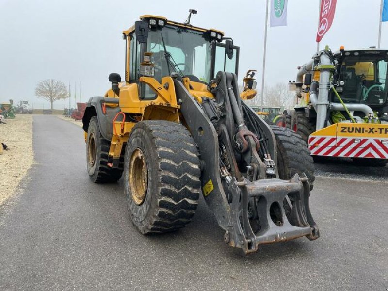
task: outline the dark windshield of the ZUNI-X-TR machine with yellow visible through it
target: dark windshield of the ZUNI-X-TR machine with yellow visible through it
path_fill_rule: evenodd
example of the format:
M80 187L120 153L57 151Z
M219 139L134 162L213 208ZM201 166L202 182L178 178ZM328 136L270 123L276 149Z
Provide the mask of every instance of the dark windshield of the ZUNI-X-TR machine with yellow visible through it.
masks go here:
M342 92L339 92L342 100L345 103L384 104L388 91L387 61L382 55L345 56L338 75L338 81L343 82Z

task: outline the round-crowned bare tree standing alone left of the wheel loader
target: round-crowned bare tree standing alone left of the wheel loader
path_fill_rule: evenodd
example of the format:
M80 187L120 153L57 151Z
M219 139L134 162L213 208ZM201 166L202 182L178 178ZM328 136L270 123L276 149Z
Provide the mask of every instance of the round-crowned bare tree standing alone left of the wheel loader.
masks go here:
M35 87L35 95L49 101L51 109L54 101L69 97L65 84L62 81L53 79L40 81Z

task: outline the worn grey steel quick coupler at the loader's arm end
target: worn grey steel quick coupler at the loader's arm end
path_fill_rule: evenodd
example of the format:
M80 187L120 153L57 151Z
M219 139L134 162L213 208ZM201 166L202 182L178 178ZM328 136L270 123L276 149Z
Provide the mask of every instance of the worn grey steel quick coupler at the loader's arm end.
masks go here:
M309 207L308 178L263 179L232 182L231 217L225 242L254 252L259 244L285 242L306 236L319 238Z

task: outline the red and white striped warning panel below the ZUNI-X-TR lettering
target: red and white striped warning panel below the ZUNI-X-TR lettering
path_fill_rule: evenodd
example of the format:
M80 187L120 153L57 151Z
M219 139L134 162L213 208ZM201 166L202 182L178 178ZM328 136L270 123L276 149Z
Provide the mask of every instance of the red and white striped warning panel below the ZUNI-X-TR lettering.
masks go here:
M311 155L388 159L388 138L316 136L308 138Z

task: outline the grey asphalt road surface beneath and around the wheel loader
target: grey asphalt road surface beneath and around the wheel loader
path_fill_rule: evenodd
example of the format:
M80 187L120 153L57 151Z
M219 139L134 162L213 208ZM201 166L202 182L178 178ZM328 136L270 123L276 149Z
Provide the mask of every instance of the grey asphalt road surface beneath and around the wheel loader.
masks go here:
M35 116L33 129L36 164L0 210L0 290L388 290L387 172L369 181L318 170L321 238L247 256L223 242L203 199L186 228L141 235L122 182L89 180L80 127Z

